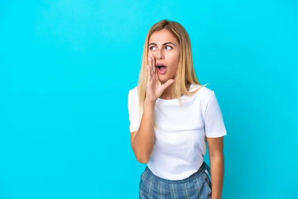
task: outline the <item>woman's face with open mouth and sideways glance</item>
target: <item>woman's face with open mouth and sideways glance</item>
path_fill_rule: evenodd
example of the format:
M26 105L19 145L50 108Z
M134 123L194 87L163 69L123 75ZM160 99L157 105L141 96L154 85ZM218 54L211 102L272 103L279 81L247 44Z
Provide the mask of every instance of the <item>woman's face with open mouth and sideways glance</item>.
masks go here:
M168 30L153 32L149 38L148 53L154 55L159 80L165 83L177 73L180 44Z

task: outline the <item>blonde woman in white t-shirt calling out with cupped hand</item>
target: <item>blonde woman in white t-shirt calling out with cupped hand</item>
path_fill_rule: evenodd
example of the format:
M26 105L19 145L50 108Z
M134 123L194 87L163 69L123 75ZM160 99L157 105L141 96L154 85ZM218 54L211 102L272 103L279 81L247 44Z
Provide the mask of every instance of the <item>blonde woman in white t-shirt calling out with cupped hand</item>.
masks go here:
M143 55L128 95L132 149L147 164L140 199L221 199L226 129L214 91L196 77L188 33L162 20L150 28Z

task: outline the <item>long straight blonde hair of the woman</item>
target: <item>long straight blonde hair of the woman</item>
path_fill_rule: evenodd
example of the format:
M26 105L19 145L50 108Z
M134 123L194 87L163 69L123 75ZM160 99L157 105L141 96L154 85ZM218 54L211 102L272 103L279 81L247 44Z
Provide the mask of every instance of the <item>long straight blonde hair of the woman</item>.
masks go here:
M146 36L144 50L143 50L143 58L141 64L141 71L138 81L138 95L139 95L139 107L140 107L140 119L143 115L144 110L144 101L146 97L146 88L147 88L147 65L148 65L148 48L149 48L149 38L153 32L159 30L168 30L175 36L180 44L180 58L177 73L174 77L174 83L172 86L173 94L179 101L181 106L181 96L190 96L195 94L200 88L205 87L206 85L202 86L197 79L195 74L194 64L193 64L193 57L192 57L192 50L191 50L191 43L190 38L185 30L185 28L178 22L169 21L169 20L161 20L155 23L150 29ZM201 85L199 89L189 92L187 90L187 83Z

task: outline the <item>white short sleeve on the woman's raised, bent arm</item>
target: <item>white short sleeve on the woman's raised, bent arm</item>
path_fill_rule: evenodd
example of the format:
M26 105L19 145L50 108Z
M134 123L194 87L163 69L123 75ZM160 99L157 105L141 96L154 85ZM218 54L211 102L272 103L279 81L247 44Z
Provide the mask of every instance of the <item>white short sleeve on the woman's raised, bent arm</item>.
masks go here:
M130 90L128 94L128 113L130 121L130 132L139 128L139 97L136 91Z

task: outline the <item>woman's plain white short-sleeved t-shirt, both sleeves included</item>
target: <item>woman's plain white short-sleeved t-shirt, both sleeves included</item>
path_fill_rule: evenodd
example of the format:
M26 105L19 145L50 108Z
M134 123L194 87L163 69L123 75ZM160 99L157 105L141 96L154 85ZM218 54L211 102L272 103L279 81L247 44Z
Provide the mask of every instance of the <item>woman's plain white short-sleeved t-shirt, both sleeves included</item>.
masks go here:
M202 87L191 85L190 91ZM147 164L152 173L167 180L183 180L198 171L206 154L206 136L226 135L224 119L214 91L202 87L192 96L155 103L155 142ZM130 132L139 128L138 88L129 91Z

